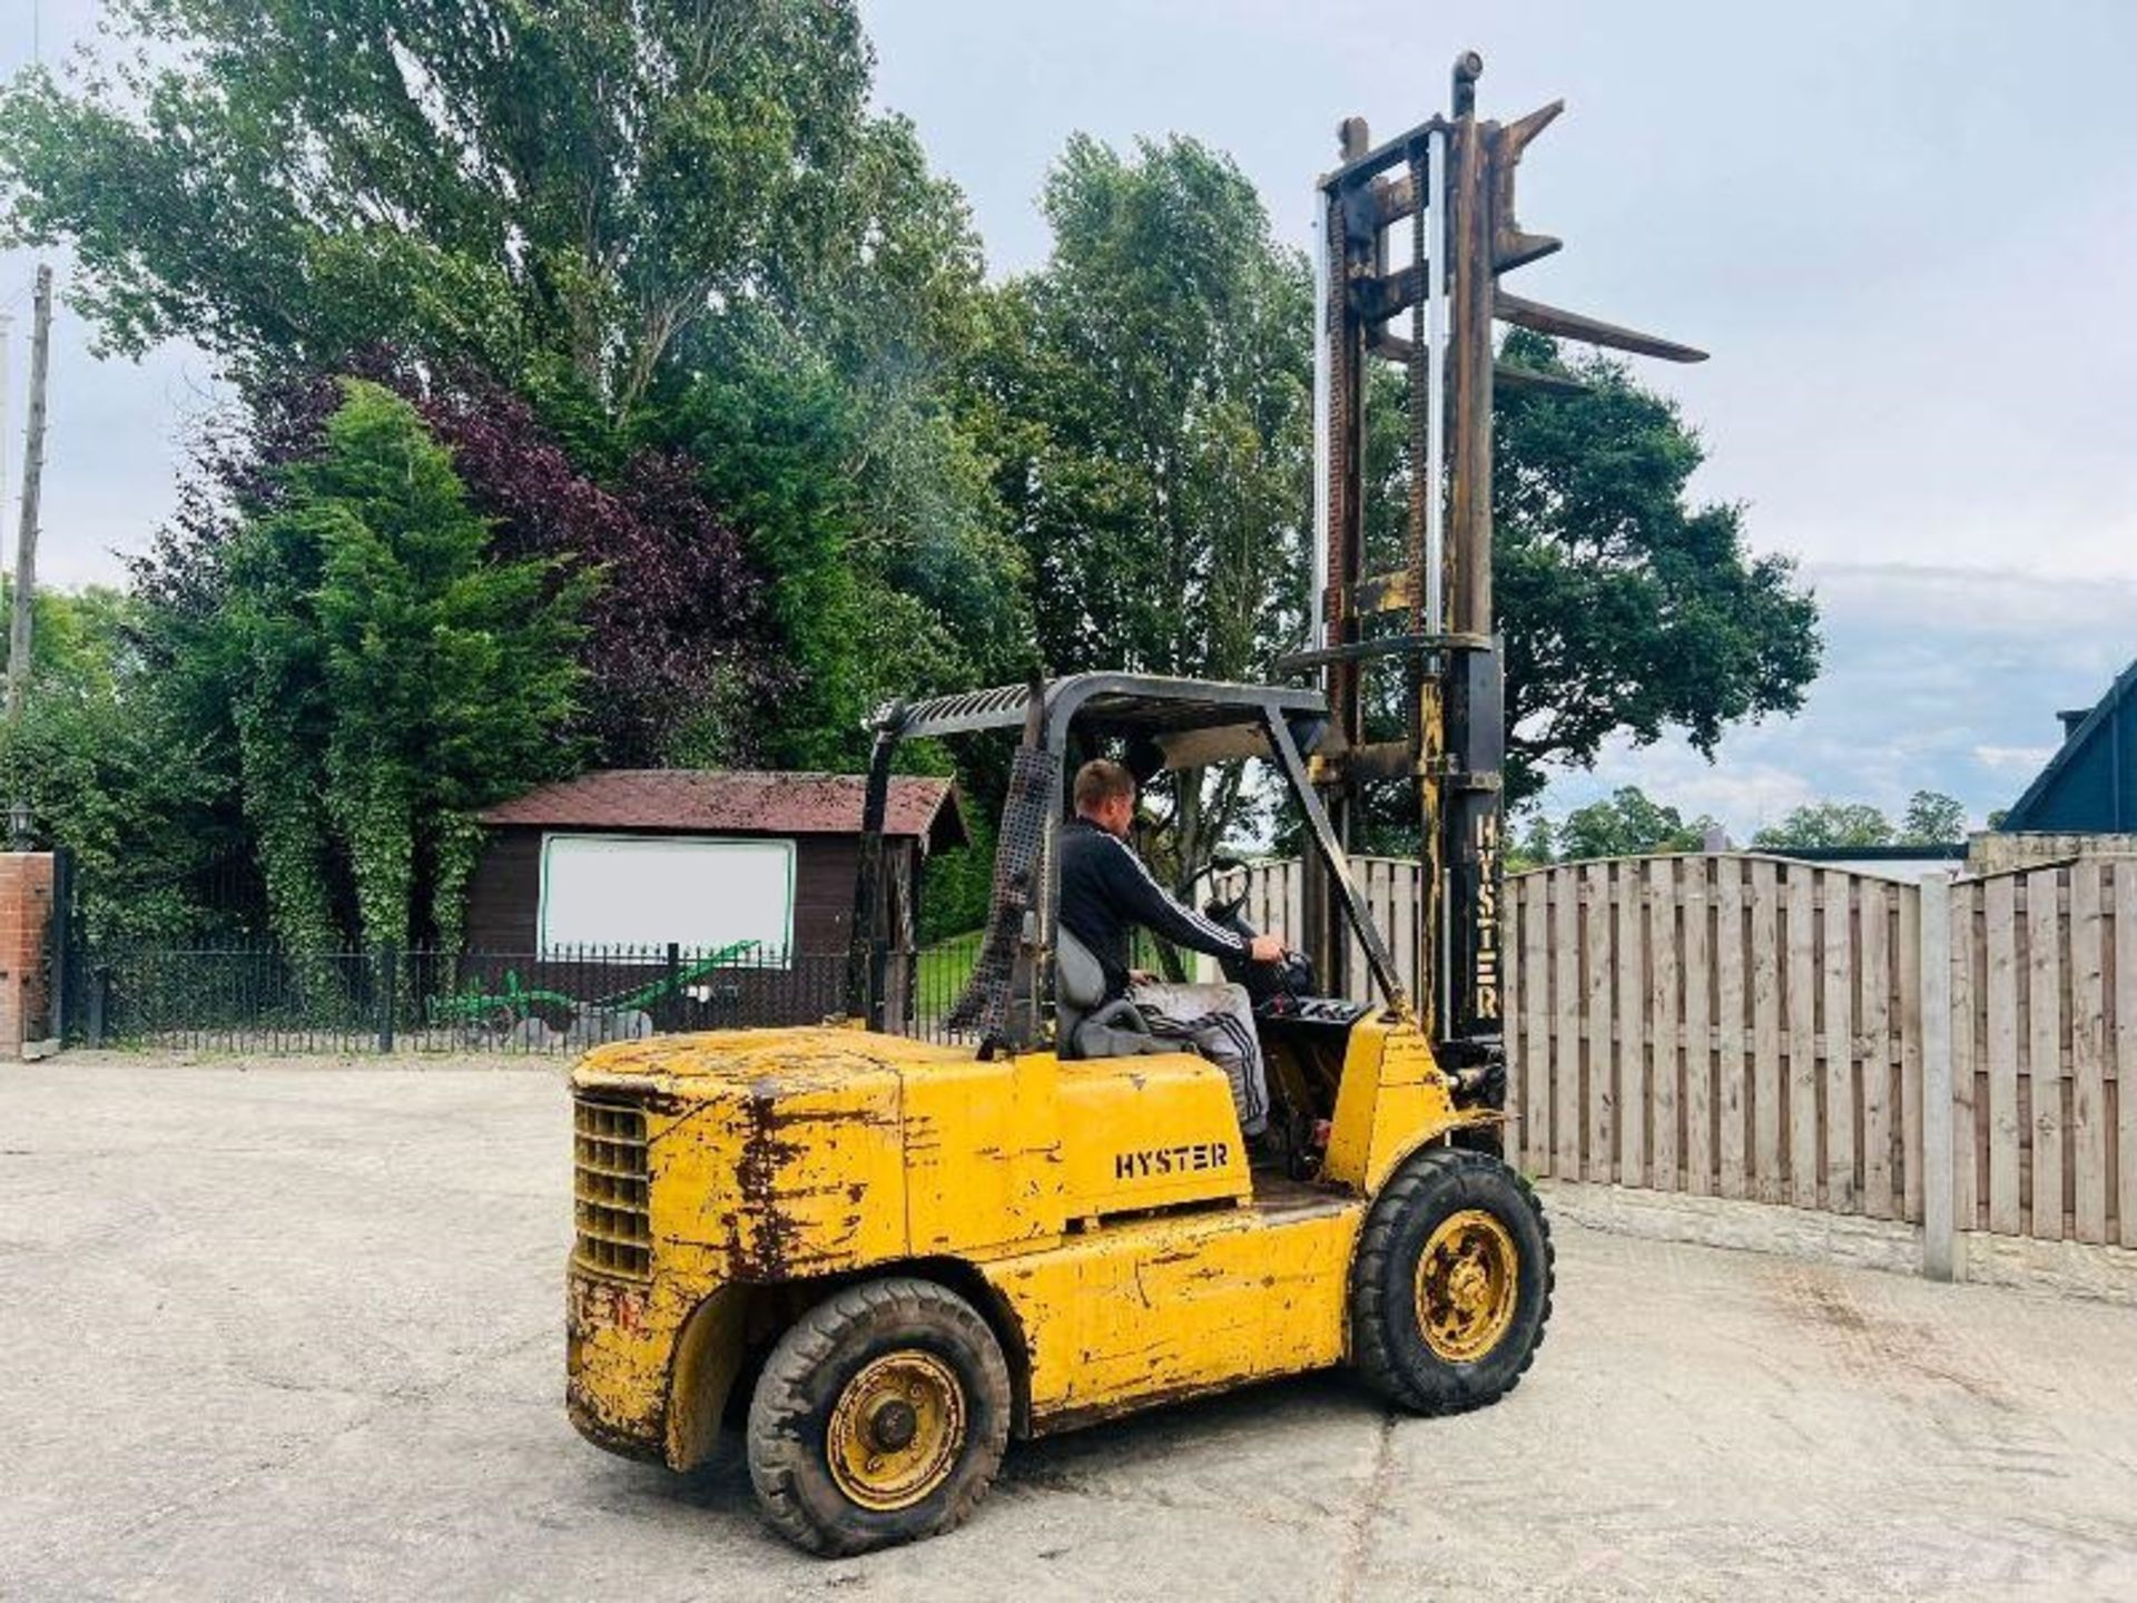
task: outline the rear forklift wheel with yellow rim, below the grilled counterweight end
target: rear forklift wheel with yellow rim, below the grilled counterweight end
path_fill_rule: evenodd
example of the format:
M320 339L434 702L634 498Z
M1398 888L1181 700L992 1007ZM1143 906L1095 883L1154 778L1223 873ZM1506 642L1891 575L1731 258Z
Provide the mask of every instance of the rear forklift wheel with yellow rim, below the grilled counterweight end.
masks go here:
M797 1319L756 1376L756 1503L814 1554L934 1537L985 1496L1009 1409L1009 1366L972 1304L932 1280L865 1280Z

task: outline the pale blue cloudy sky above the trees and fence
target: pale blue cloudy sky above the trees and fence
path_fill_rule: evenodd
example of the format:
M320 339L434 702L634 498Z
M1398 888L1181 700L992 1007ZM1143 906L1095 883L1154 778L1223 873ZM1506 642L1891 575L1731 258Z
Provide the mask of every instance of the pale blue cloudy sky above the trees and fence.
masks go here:
M94 0L0 0L0 73L81 38ZM1071 133L1184 133L1231 152L1306 244L1336 124L1381 135L1447 100L1564 98L1519 216L1566 248L1524 295L1714 353L1643 363L1710 451L1705 500L1799 560L1825 671L1804 712L1609 748L1549 812L1620 784L1737 838L1816 797L1898 812L1915 789L1979 823L2137 656L2137 4L1928 0L863 0L880 105L919 126L996 274L1045 259L1034 197ZM1389 19L1402 17L1402 26ZM30 259L0 252L21 425ZM214 368L96 361L62 312L41 573L115 579L169 509ZM19 445L9 447L9 494ZM13 524L13 517L9 519Z

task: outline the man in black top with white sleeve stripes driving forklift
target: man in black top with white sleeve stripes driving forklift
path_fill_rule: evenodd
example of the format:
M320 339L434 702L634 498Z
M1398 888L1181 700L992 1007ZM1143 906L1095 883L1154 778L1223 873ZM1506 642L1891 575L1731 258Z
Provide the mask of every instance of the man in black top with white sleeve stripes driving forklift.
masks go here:
M1105 970L1105 998L1126 996L1143 1028L1182 1041L1216 1062L1231 1081L1239 1133L1259 1146L1269 1129L1269 1090L1244 985L1171 985L1128 966L1137 928L1210 958L1274 964L1284 943L1252 940L1205 919L1165 893L1128 846L1135 776L1120 763L1083 763L1073 789L1075 821L1060 831L1060 921Z

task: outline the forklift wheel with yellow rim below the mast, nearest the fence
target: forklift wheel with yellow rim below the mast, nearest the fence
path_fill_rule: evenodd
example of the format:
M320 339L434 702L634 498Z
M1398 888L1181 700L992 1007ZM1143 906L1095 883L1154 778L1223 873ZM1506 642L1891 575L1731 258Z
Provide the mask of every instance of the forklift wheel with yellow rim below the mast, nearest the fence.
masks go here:
M1434 1148L1366 1214L1351 1361L1398 1409L1462 1413L1513 1391L1551 1317L1551 1227L1494 1156Z

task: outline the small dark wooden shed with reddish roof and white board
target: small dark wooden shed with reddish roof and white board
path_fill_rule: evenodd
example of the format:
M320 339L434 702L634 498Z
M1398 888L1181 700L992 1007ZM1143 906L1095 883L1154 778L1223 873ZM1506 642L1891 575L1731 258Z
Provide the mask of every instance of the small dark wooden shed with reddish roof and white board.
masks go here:
M748 943L750 972L722 975L727 994L756 998L737 1022L821 1017L844 985L863 799L859 774L605 769L545 784L481 816L466 947L583 996L622 990L615 975L560 977L586 953L603 968L624 953L628 968ZM898 945L912 945L925 859L964 840L949 780L891 780L883 896ZM895 975L902 987L908 966Z

